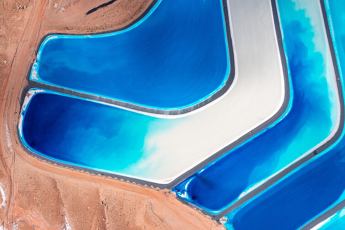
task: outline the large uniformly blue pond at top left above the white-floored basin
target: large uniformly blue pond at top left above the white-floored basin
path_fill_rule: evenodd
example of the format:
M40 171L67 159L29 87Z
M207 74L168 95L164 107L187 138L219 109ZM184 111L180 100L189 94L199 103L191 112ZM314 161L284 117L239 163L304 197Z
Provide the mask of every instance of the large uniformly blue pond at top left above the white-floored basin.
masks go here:
M221 0L158 0L128 29L51 35L30 79L159 109L206 99L229 77ZM38 79L36 79L38 77Z

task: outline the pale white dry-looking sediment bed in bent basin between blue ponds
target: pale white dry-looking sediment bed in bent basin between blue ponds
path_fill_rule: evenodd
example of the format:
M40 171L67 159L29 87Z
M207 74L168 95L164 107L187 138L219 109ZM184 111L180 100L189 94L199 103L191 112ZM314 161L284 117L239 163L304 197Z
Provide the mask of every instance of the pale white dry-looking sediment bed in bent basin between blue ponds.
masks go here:
M250 4L227 1L227 7L233 15L231 18L228 10L235 84L223 96L188 116L173 115L175 119L166 119L164 124L169 127L149 124L143 147L147 154L130 166L135 173L109 173L168 184L279 111L285 82L270 1ZM256 8L250 17L246 16L247 7ZM31 96L25 98L23 110ZM20 129L21 123L22 117ZM150 150L151 146L156 147L155 152Z

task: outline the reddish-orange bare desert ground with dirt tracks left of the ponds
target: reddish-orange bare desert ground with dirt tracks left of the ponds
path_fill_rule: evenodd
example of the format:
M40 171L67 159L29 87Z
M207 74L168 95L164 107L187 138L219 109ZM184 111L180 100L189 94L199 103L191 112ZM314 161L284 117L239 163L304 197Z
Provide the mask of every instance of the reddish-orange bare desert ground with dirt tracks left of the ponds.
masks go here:
M0 0L0 228L224 229L170 192L48 164L20 147L18 97L39 40L49 32L121 28L151 2L118 0L84 17L106 1Z

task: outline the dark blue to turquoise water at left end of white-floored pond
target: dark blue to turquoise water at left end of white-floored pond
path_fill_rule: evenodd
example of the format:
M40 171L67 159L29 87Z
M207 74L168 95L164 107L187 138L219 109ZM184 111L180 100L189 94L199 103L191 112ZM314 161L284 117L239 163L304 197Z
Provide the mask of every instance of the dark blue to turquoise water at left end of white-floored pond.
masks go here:
M23 113L21 140L31 151L67 164L130 174L126 167L142 155L147 123L160 119L37 91Z

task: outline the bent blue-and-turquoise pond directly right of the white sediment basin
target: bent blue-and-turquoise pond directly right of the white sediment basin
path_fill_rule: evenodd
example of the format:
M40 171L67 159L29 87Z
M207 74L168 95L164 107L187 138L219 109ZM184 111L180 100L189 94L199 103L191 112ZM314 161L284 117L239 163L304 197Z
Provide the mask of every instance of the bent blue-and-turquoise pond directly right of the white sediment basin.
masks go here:
M212 214L230 207L271 175L305 155L336 126L337 96L318 0L308 4L300 0L278 0L278 10L293 87L289 111L280 122L172 189L181 199ZM269 217L264 212L262 215Z

